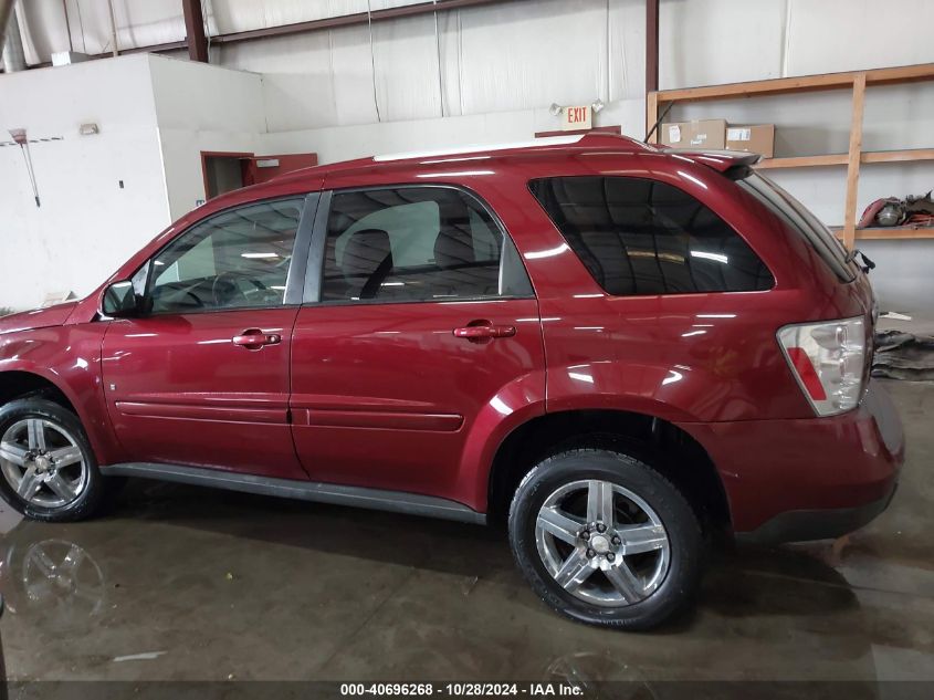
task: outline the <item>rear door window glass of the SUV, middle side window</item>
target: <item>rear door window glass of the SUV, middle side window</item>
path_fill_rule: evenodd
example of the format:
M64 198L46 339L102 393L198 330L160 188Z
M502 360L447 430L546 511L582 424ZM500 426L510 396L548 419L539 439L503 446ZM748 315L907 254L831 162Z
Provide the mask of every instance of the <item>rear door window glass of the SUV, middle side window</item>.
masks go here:
M324 302L529 295L512 241L466 192L397 187L332 198Z

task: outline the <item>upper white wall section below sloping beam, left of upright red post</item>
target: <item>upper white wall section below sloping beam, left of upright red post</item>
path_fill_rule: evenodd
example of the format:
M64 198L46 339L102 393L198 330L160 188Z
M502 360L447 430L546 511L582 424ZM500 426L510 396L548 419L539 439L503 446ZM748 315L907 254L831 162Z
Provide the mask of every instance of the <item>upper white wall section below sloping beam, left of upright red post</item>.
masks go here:
M430 14L378 22L372 56L357 25L212 60L263 73L270 130L304 130L641 100L643 25L643 0L539 0L443 12L437 42Z

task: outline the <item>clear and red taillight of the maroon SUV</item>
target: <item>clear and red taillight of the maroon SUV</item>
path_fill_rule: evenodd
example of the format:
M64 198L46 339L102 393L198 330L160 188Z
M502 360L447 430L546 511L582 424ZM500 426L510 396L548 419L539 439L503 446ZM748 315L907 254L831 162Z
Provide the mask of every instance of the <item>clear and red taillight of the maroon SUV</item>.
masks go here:
M860 403L865 361L862 316L785 326L778 331L778 343L818 416L842 414Z

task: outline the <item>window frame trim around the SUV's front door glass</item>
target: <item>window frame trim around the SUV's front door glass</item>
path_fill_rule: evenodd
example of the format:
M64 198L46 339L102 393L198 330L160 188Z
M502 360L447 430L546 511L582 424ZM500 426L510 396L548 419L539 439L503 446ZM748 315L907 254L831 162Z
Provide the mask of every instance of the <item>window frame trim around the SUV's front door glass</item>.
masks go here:
M283 294L283 302L281 304L256 304L251 306L234 306L223 309L197 307L187 311L147 311L140 314L140 317L150 318L162 316L187 316L190 314L231 313L235 311L262 311L267 309L285 309L288 306L298 306L302 303L302 286L305 276L304 270L308 261L308 250L311 248L312 241L312 226L315 218L314 212L316 212L318 208L319 198L321 192L318 191L296 192L295 195L283 195L279 197L270 197L266 199L254 199L252 201L240 202L237 205L231 205L230 207L225 207L223 209L219 209L218 211L208 215L203 219L195 221L187 229L185 229L177 236L174 236L171 240L165 243L165 245L162 245L155 253L149 255L149 258L147 258L146 261L141 265L139 265L139 268L136 269L133 275L130 275L132 279L140 270L143 270L143 268L147 265L149 267L149 270L146 273L146 286L144 292L144 300L148 300L153 291L153 283L155 282L156 265L154 264L154 261L159 255L161 255L170 245L175 244L176 241L180 240L185 236L188 236L198 227L210 222L217 217L230 213L231 211L244 209L246 207L254 207L258 205L294 200L300 202L298 227L295 229L295 241L292 244L292 258L288 261L288 271L286 272L285 276L285 293ZM301 273L298 272L298 268L302 269Z

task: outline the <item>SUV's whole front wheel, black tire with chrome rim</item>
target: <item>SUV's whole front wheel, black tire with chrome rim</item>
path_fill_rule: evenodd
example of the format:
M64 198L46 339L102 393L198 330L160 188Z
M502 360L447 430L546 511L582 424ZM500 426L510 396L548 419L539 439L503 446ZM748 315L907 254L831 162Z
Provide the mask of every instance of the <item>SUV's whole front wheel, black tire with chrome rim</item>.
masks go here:
M41 441L34 437L38 430L42 431ZM43 458L51 458L51 464ZM30 482L28 485L38 490L27 499L14 487L18 477L19 485L23 485L30 467L33 474L42 472L44 482L38 487ZM61 477L62 481L55 480L53 490L48 484L54 477ZM33 397L0 408L0 497L17 511L44 522L84 520L101 508L106 481L84 428L72 411Z

